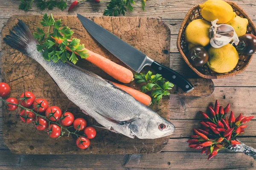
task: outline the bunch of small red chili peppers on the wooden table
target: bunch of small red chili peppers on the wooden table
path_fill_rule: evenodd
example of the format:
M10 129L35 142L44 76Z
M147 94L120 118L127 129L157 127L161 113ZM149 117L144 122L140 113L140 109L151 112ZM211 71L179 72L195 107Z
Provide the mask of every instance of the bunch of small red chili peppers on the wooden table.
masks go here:
M240 144L236 140L236 136L244 133L244 128L254 116L242 116L242 113L235 118L233 111L230 112L228 119L225 116L230 110L230 103L226 108L219 106L218 100L215 102L215 107L208 106L209 115L201 111L201 114L206 121L201 121L201 128L195 129L195 135L191 135L189 139L189 147L201 149L201 153L209 155L208 160L214 157L219 150L226 149L230 144Z

